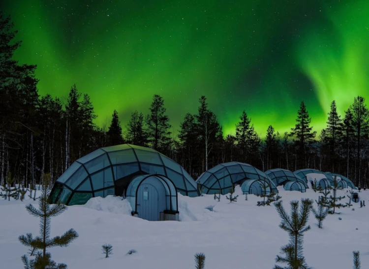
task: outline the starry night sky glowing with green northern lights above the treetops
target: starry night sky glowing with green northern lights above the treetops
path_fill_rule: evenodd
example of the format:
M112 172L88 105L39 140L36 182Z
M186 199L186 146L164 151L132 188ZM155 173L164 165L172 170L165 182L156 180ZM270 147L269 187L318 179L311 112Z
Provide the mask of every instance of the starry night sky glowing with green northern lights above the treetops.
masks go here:
M177 133L201 95L225 134L243 110L256 131L289 131L305 101L315 131L369 99L368 0L2 0L36 64L41 95L91 96L96 124L147 114L154 94Z

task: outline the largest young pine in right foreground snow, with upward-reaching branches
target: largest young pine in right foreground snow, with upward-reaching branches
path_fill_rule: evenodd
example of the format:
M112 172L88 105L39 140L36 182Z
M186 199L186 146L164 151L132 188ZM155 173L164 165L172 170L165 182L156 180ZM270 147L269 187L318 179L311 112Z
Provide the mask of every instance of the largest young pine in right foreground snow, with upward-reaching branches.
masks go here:
M281 253L286 256L277 255L276 262L287 264L287 267L275 265L274 269L308 269L305 257L303 255L303 236L310 230L307 225L309 211L312 204L311 200L302 199L299 210L299 202L291 201L291 214L287 214L283 208L282 201L276 202L277 212L282 219L279 227L286 231L290 237L290 242L281 247Z

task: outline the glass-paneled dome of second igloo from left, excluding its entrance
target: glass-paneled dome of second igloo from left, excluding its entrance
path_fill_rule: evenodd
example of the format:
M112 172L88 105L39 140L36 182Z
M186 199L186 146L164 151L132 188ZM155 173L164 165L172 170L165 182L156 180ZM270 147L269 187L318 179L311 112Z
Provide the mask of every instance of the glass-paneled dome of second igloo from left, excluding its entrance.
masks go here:
M200 184L204 194L218 194L221 190L224 195L229 192L232 184L241 185L247 179L265 180L271 186L272 191L278 192L276 185L264 172L239 162L219 164L201 174L196 183Z

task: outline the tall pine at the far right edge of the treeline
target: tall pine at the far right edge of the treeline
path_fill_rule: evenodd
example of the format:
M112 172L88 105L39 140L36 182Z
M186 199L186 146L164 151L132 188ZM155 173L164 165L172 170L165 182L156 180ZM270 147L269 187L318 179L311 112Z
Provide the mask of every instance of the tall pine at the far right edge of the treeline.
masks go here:
M358 96L354 98L354 103L349 108L352 112L352 127L356 142L356 174L357 181L361 175L361 149L364 147L364 138L369 135L369 109L365 103L365 98Z

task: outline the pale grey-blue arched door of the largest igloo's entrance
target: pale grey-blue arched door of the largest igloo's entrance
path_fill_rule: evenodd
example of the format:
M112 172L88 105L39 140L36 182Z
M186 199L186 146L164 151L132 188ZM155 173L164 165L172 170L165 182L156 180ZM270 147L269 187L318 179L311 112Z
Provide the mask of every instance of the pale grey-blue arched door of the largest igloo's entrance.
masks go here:
M145 220L159 220L159 194L153 185L141 184L138 188L137 213L139 218Z

